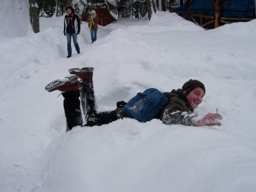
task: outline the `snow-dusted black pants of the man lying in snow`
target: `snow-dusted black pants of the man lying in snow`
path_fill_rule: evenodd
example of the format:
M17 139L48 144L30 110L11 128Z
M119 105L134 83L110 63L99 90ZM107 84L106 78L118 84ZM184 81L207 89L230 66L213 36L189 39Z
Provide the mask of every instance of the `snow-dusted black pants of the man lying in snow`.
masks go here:
M83 126L100 126L117 120L115 110L111 112L96 112L93 81L80 82L79 90L62 93L62 96L64 97L63 106L67 120L67 131L72 130L74 126L82 126L80 100L83 114L87 121Z

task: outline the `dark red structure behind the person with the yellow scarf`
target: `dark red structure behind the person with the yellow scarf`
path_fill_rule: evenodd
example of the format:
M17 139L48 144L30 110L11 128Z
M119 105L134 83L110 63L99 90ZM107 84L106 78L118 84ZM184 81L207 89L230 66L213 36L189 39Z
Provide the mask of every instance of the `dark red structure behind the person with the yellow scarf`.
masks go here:
M95 9L96 14L99 16L99 25L106 26L108 24L111 24L112 22L117 22L116 18L110 13L110 11L107 8L100 8ZM86 22L87 15L83 14L82 20Z

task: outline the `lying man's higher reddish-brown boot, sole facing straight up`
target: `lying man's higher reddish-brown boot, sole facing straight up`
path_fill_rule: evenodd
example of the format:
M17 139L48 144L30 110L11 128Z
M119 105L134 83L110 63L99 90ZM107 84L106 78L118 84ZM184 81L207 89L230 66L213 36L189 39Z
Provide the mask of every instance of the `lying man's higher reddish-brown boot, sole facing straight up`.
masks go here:
M73 68L69 70L69 73L78 75L82 82L89 82L93 80L93 70L92 67Z

